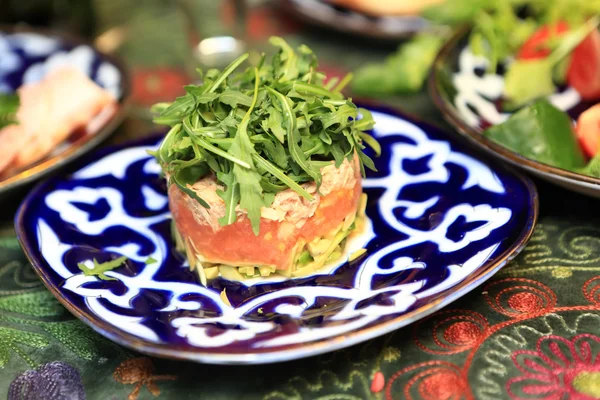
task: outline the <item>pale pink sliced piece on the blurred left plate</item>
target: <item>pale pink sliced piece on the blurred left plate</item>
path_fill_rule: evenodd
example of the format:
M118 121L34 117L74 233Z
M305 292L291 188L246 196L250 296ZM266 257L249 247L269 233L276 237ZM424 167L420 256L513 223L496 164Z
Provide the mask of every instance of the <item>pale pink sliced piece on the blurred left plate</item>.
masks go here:
M50 72L21 86L18 125L0 130L0 173L21 169L45 156L116 99L73 67Z

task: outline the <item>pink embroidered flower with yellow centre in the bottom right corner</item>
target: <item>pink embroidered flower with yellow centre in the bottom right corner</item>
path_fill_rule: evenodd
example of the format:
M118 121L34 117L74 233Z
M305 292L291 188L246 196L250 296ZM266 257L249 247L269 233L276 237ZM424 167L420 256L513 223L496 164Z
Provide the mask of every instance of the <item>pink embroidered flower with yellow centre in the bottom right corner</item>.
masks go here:
M511 358L521 372L520 376L506 383L512 399L600 398L598 336L581 334L571 340L555 335L545 336L538 340L535 351L519 350Z

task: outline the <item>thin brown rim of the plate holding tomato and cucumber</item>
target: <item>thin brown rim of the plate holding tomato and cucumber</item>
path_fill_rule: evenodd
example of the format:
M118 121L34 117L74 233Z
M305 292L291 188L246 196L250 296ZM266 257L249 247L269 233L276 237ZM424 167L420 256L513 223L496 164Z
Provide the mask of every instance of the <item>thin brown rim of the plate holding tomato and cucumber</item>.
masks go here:
M486 138L482 131L468 125L463 118L459 115L456 107L442 94L440 90L441 82L441 71L444 65L446 65L450 54L456 50L459 42L471 31L469 27L463 27L459 29L442 47L438 53L433 68L429 74L428 89L429 94L436 105L436 107L442 112L442 115L452 127L454 127L463 137L469 139L472 143L476 144L478 148L485 150L486 152L497 157L499 160L509 162L510 164L525 168L529 171L548 174L554 178L561 180L570 181L576 184L592 184L598 186L600 189L600 178L594 178L587 175L578 174L576 172L568 171L566 169L553 167L548 164L535 161L531 158L523 157L517 152L509 150L508 148Z

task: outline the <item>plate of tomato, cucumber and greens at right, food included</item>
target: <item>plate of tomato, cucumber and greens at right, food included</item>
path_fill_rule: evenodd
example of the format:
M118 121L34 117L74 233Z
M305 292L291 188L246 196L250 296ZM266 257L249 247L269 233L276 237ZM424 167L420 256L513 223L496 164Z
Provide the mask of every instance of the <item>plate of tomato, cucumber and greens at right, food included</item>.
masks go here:
M483 149L600 197L600 4L489 3L434 63L430 92Z

